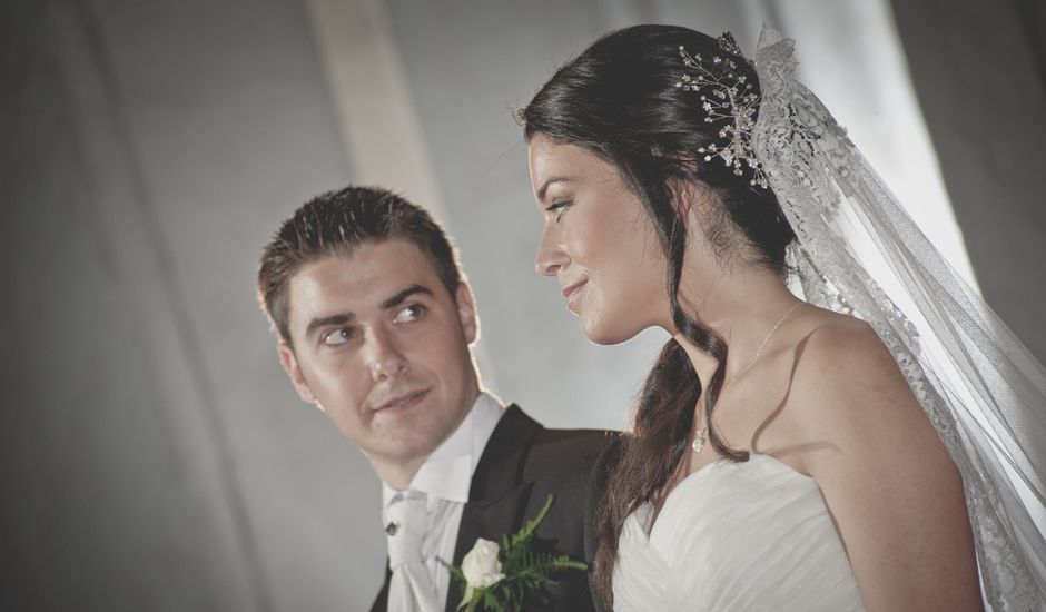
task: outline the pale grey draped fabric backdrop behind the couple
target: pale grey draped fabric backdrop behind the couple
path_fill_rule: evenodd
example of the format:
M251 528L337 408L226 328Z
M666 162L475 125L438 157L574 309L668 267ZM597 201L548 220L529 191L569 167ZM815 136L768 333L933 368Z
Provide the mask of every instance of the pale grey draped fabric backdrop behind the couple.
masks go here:
M624 426L665 337L593 347L534 275L511 109L639 22L798 39L811 88L1046 356L1035 0L9 0L0 610L367 609L377 478L297 399L253 288L278 223L349 181L455 236L489 388L546 425Z

